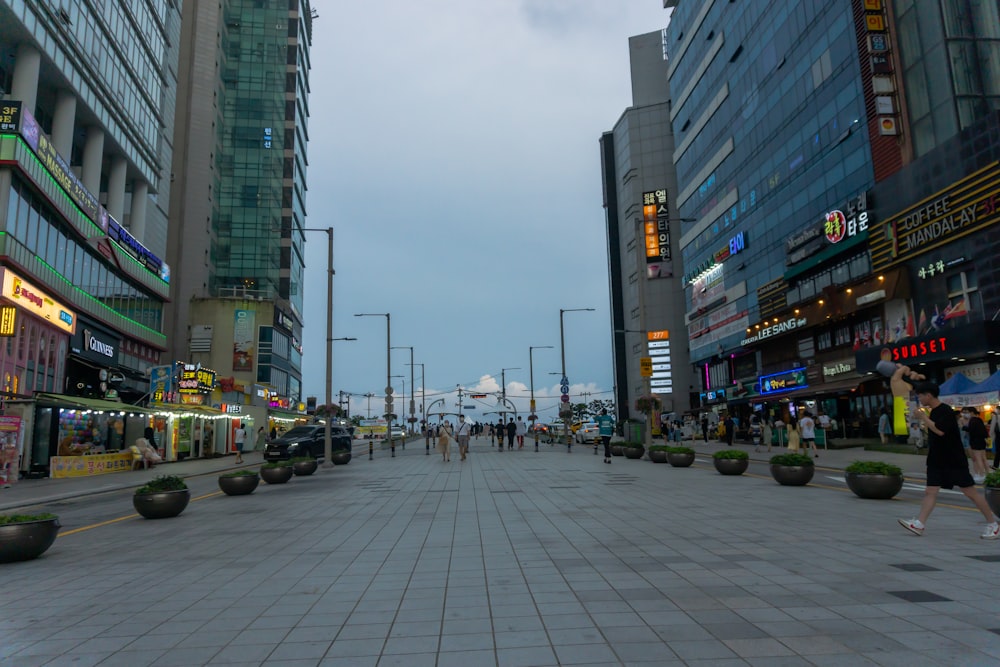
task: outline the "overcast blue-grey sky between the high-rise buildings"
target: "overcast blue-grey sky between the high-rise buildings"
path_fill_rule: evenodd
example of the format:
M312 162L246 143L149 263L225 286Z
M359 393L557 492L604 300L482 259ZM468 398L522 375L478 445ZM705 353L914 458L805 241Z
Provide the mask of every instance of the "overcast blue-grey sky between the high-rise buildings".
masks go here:
M561 308L595 309L564 315L573 402L611 399L598 140L631 103L628 38L666 26L661 0L314 7L307 225L334 227L333 335L358 339L334 342L334 401L351 392L365 415L373 392L381 414L386 318L354 314L388 312L427 403L449 410L457 385L499 391L507 368L527 415L529 347L551 345L533 358L553 419ZM327 243L308 236L303 390L323 403ZM392 350L407 395L409 361ZM495 408L474 404L478 419Z

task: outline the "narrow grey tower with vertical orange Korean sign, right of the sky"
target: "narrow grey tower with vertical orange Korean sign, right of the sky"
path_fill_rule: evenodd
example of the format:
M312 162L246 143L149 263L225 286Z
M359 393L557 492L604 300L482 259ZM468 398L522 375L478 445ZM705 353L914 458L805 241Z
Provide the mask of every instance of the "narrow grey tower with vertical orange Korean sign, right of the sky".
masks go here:
M651 395L680 416L691 389L663 33L629 38L629 56L632 106L600 139L619 421Z

